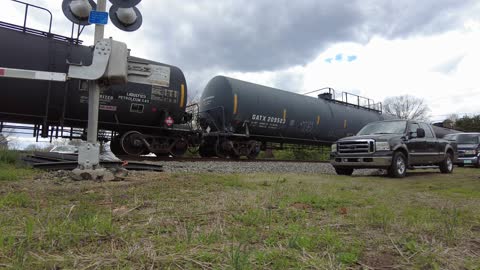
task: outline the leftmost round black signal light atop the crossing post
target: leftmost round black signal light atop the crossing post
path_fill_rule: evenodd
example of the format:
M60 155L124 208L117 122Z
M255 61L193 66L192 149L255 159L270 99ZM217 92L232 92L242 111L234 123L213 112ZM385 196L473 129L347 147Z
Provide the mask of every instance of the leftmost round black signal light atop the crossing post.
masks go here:
M93 0L63 0L63 14L71 22L79 25L89 25L90 11L96 10L97 4Z

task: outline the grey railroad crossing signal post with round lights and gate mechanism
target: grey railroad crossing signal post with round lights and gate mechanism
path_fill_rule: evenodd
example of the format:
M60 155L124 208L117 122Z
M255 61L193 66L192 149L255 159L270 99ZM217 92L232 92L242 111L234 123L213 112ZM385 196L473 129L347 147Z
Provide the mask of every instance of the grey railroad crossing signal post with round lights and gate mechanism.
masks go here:
M135 6L140 3L141 0L110 0L110 2L113 4L109 12L110 19L115 26L123 31L130 32L140 28L142 25L142 14ZM104 40L104 25L108 23L108 13L106 12L107 0L97 0L97 3L98 7L93 0L63 0L62 2L63 12L71 22L82 25L95 24L94 46L95 50L100 50L98 54L102 55L101 57L97 57L98 61L92 62L92 65L89 67L70 66L69 68L69 73L75 73L78 75L77 77L82 77L90 82L87 143L82 144L79 148L78 155L78 171L80 172L85 169L96 170L99 166L100 146L98 144L97 134L101 86L98 79L106 72L107 74L110 73L113 75L111 76L113 81L110 81L109 85L113 82L123 84L127 82L128 50L126 49L126 45L123 46L111 40L110 42ZM115 49L115 47L117 47L117 49ZM110 53L115 51L119 52L119 54L110 57ZM110 65L108 64L109 62Z

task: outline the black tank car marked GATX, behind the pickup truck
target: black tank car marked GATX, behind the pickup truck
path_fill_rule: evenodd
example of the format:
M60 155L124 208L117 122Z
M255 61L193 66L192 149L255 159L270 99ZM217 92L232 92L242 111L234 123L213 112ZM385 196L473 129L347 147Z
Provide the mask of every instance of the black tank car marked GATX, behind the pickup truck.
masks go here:
M393 118L373 101L354 97L358 104L337 101L331 93L314 98L217 76L200 101L200 153L254 158L267 142L329 145L367 123ZM367 105L360 106L360 99Z

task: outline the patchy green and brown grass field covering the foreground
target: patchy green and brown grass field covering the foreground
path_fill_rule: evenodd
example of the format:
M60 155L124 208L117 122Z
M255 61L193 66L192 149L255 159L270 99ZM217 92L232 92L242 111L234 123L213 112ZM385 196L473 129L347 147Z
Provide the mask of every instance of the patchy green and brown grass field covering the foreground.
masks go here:
M3 181L0 267L479 269L478 176Z

